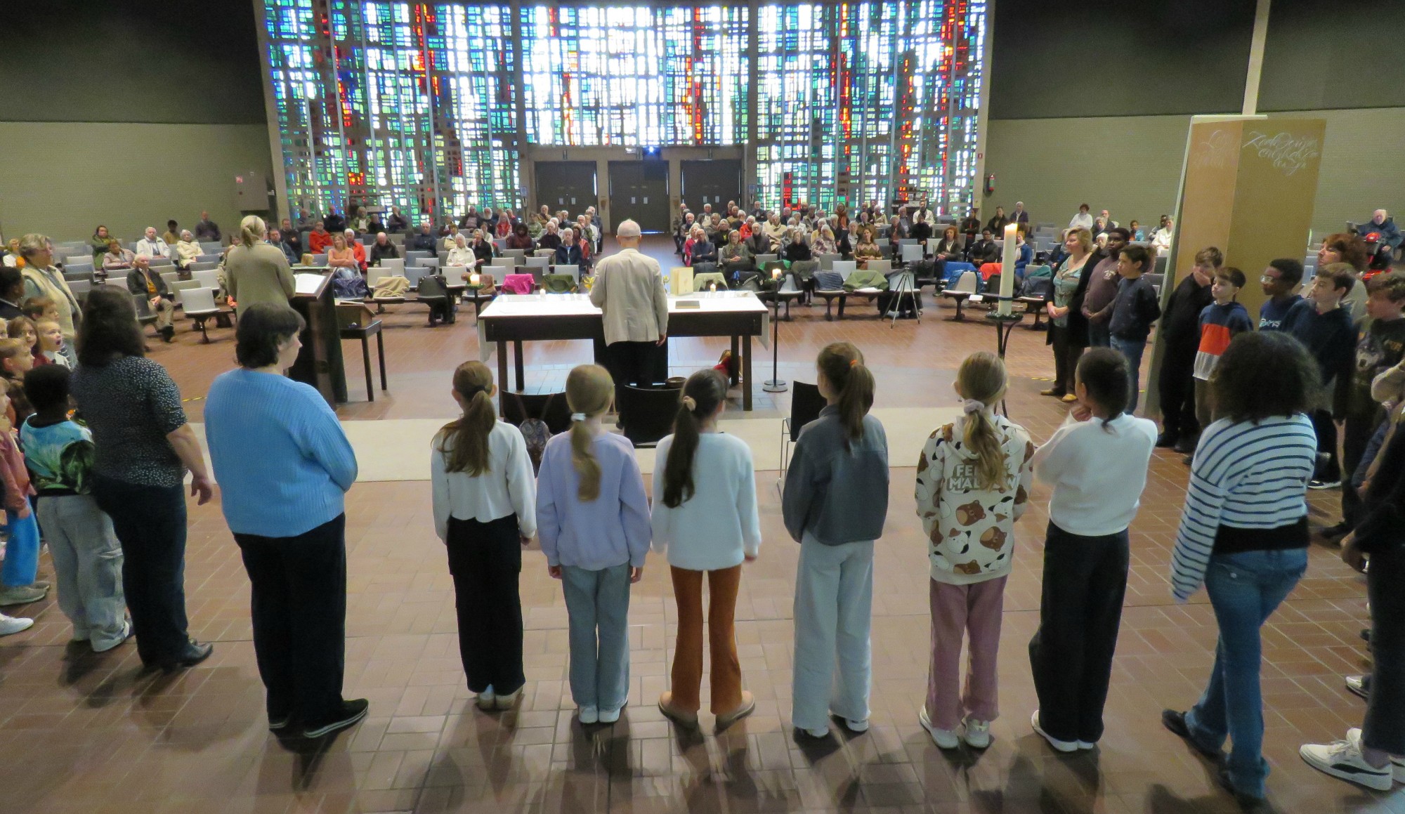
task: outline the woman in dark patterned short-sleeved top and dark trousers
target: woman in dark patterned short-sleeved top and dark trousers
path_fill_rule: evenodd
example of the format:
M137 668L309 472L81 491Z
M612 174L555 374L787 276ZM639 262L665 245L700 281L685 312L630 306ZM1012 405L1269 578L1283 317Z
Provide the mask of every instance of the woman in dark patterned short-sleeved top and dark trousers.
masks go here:
M72 393L93 431L93 497L122 542L122 585L136 651L166 671L209 657L211 646L185 627L185 495L204 505L214 494L195 431L185 422L180 390L166 369L145 358L132 298L103 288L89 295Z

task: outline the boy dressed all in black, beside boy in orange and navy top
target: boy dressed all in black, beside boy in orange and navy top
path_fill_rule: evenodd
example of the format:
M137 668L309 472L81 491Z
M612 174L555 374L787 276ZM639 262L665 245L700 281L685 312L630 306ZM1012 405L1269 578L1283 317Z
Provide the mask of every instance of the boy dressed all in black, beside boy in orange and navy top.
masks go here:
M1196 265L1180 281L1166 303L1161 337L1166 352L1161 358L1161 438L1156 446L1175 446L1176 452L1196 449L1200 421L1196 420L1196 351L1200 348L1200 312L1211 303L1211 283L1224 265L1218 248L1196 253Z

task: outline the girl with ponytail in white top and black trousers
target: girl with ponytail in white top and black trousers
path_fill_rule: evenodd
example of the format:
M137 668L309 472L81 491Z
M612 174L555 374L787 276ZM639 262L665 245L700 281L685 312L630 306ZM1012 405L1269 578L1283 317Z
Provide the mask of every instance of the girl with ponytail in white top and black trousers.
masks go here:
M503 710L527 681L517 575L537 532L537 483L523 434L493 410L488 365L459 365L451 394L464 414L434 436L434 532L448 550L468 689L479 709Z

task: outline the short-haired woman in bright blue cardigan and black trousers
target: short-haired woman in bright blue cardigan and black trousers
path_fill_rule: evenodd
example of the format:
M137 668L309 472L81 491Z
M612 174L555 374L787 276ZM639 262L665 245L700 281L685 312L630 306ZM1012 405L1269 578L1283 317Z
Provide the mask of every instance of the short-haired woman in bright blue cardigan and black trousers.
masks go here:
M254 303L239 317L239 368L209 387L205 436L222 508L251 584L254 655L268 728L319 738L365 717L341 698L346 668L344 495L351 443L316 389L282 375L298 358L298 312Z

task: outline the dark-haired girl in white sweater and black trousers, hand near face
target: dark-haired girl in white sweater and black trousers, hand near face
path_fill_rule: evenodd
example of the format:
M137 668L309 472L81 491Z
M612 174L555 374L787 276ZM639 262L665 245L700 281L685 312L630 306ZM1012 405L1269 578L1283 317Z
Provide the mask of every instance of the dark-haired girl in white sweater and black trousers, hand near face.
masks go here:
M1034 476L1054 486L1044 539L1040 629L1030 665L1040 709L1034 731L1059 752L1092 749L1123 619L1127 526L1146 487L1156 424L1125 413L1127 359L1092 348L1078 362L1078 406L1034 452Z

